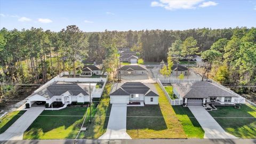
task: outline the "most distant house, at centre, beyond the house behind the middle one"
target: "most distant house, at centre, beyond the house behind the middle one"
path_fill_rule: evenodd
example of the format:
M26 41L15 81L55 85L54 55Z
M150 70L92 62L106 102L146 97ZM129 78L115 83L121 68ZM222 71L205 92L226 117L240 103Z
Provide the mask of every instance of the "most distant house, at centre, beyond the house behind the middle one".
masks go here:
M138 57L137 53L133 51L124 51L120 54L119 60L122 62L131 62L131 63L137 63Z

